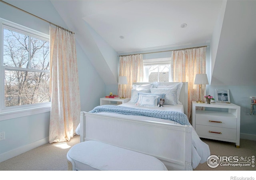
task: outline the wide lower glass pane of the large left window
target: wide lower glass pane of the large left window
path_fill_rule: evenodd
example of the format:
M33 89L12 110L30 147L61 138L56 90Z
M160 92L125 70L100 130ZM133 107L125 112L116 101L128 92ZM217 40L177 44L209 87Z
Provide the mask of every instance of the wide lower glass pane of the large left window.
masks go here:
M5 70L4 106L50 102L49 72Z

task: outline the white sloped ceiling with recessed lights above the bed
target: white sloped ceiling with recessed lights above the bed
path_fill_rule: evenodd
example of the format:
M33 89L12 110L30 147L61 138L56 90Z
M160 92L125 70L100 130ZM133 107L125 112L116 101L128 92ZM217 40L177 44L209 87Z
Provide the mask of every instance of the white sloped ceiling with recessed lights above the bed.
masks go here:
M91 28L118 54L210 44L211 85L256 84L256 1L51 0L105 84L117 79ZM226 6L223 6L226 4ZM224 7L224 8L223 8ZM221 15L220 15L221 14ZM222 22L223 20L223 22ZM186 23L186 28L180 25ZM217 35L216 32L219 32ZM214 39L212 39L214 35ZM217 36L216 36L217 35ZM124 36L120 39L119 36ZM212 46L212 42L217 42ZM102 46L104 47L104 46ZM212 51L214 48L214 51ZM93 52L93 53L92 53ZM115 66L113 66L115 65ZM223 66L224 65L224 66ZM112 69L110 68L112 67ZM107 70L109 69L109 70ZM110 70L111 69L111 70ZM242 73L241 73L242 72Z

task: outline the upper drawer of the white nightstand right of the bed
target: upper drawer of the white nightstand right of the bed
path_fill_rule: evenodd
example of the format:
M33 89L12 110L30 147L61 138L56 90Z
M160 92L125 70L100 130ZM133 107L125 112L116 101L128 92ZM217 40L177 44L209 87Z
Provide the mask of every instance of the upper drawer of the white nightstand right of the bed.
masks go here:
M199 112L196 114L196 124L205 126L236 129L236 120L236 117L232 117L232 115L227 116L227 114L222 114L222 112L215 114Z

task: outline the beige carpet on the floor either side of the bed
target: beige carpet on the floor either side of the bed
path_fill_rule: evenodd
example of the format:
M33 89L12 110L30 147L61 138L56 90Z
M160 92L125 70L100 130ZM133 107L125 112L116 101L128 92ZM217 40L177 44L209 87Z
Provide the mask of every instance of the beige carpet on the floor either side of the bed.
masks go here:
M240 148L236 148L234 143L220 142L215 140L202 139L209 145L211 155L216 156L238 156L251 157L256 155L256 141L240 140ZM68 164L66 154L68 150L75 144L80 142L80 136L76 135L69 142L44 144L38 148L34 148L28 152L10 158L0 163L0 170L10 171L66 171ZM255 168L250 167L230 167L218 166L210 168L207 163L199 164L195 170L250 170Z

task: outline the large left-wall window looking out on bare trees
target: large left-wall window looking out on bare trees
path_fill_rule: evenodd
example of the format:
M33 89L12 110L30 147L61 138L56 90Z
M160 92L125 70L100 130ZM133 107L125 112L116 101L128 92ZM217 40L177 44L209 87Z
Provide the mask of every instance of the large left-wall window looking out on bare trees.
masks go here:
M1 109L50 102L49 35L2 21ZM18 110L18 109L17 109Z

